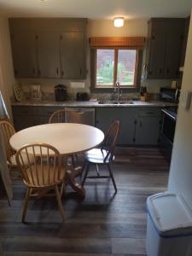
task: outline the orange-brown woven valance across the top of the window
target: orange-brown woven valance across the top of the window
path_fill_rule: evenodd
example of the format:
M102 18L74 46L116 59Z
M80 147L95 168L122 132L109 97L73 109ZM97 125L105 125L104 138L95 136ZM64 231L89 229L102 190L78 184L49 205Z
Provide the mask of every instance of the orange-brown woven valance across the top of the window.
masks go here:
M90 38L90 48L134 48L142 49L144 37L94 37Z

